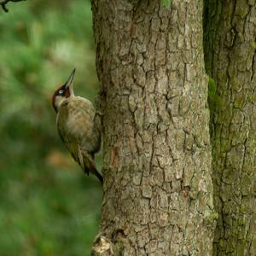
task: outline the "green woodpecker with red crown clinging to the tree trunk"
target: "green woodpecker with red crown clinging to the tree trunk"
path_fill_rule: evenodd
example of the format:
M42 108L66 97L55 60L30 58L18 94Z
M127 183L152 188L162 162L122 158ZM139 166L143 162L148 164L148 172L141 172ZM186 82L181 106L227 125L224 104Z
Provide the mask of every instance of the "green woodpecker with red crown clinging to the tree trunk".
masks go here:
M74 96L74 74L75 69L52 97L57 128L73 159L85 173L95 174L102 183L102 175L97 172L94 160L94 154L101 148L101 119L89 100Z

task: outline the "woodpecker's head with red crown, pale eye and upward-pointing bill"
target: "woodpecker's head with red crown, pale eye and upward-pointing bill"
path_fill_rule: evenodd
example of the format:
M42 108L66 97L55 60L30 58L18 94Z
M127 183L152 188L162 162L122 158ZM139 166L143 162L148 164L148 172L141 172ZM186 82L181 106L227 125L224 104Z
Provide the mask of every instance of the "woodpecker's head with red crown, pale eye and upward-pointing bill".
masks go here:
M73 72L69 75L67 82L62 84L57 90L55 90L54 95L52 96L52 106L55 108L55 112L58 112L61 104L70 96L73 96L73 77L76 72L76 69L73 69Z

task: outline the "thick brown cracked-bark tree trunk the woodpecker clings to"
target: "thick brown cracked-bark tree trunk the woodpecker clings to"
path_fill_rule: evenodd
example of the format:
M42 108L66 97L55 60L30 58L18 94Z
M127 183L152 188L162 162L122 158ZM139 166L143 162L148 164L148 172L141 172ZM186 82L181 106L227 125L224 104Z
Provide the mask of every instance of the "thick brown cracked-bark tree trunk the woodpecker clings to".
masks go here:
M94 255L212 255L202 1L92 1L104 166Z

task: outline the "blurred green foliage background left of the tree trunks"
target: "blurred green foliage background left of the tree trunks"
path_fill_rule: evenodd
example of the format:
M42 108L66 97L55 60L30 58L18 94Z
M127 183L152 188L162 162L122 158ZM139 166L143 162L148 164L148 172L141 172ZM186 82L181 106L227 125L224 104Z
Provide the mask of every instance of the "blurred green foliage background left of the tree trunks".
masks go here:
M51 106L74 67L75 93L96 97L90 1L7 7L0 10L0 255L90 255L102 188L67 153Z

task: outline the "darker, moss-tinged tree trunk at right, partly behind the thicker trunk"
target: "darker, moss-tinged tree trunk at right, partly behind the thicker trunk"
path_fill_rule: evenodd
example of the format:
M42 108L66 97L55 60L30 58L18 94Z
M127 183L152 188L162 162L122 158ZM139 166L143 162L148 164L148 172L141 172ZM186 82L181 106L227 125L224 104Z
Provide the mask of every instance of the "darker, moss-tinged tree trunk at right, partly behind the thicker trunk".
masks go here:
M256 255L255 5L254 0L207 0L205 6L205 61L219 99L210 101L218 256Z

